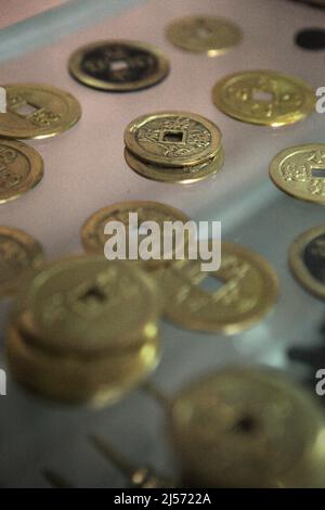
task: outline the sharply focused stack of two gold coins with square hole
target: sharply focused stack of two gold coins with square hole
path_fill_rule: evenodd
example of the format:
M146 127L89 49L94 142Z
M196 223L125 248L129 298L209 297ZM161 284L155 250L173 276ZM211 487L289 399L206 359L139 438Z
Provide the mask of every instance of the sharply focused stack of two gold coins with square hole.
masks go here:
M224 162L219 128L187 112L142 115L126 128L125 143L128 165L162 182L195 182L217 174Z

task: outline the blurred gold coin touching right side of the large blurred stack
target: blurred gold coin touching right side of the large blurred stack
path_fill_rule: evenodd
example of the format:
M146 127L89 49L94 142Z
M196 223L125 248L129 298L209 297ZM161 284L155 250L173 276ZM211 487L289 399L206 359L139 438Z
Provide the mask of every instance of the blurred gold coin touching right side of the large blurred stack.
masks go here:
M202 271L202 260L177 260L165 271L166 315L184 328L235 334L255 326L274 306L277 277L259 255L238 244L222 243L221 267ZM204 288L210 277L220 289Z

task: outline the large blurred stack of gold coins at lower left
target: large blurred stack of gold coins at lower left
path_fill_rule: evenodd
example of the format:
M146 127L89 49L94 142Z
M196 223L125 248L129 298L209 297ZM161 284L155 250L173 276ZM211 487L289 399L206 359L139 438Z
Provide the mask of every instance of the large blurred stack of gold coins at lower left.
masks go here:
M14 378L49 398L101 406L143 381L159 360L159 301L135 266L72 257L26 281L8 329Z

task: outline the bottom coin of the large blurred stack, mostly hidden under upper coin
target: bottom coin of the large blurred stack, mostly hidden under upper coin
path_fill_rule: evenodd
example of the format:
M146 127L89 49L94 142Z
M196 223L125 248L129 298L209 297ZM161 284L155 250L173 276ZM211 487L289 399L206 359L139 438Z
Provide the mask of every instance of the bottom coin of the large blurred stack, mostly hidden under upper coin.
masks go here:
M53 356L11 327L6 357L13 377L27 390L61 401L98 407L115 403L141 384L158 365L160 345L159 339L153 337L127 355Z

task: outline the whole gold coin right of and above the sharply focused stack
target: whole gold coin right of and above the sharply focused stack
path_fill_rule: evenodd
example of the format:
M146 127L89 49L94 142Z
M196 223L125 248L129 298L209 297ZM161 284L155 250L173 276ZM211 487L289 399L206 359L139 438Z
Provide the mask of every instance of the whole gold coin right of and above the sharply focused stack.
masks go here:
M263 69L226 76L216 84L212 98L230 117L272 127L302 120L315 109L315 93L304 81Z

